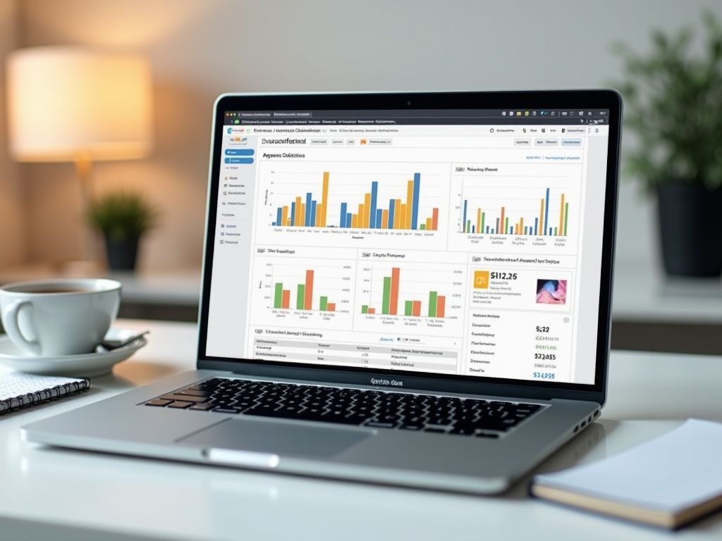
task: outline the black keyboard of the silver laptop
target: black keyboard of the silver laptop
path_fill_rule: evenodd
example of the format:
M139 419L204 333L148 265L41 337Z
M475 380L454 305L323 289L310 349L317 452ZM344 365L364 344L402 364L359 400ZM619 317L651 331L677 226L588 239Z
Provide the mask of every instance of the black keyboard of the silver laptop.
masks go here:
M539 404L214 378L147 406L496 438Z

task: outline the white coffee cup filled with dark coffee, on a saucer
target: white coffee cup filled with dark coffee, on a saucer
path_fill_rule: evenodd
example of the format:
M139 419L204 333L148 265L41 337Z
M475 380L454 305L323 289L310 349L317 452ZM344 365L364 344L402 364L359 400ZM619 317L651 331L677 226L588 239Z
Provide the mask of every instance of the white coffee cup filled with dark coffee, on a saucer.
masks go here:
M65 278L8 283L0 288L0 317L8 337L34 356L92 353L121 304L121 283Z

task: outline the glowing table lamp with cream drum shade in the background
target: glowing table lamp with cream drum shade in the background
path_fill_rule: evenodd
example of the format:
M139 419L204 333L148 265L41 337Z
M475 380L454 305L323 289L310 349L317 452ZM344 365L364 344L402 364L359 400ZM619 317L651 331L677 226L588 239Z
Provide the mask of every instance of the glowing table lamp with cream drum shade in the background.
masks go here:
M152 146L150 69L142 56L77 46L14 50L6 59L9 154L74 162L83 208L92 162L139 159ZM84 257L93 258L86 231Z

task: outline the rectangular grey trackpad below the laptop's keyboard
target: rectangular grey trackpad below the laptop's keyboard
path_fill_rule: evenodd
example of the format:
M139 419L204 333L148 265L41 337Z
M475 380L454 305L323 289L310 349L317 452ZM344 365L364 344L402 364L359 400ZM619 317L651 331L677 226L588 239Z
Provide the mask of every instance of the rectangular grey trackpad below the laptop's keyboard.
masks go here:
M206 449L234 449L281 456L329 458L373 432L228 419L178 440Z

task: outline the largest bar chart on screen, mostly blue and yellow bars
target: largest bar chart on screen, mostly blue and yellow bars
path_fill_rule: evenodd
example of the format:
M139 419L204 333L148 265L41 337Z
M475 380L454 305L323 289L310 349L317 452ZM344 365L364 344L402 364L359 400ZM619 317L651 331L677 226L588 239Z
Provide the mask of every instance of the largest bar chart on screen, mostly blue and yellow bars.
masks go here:
M261 162L259 242L443 249L448 164Z

